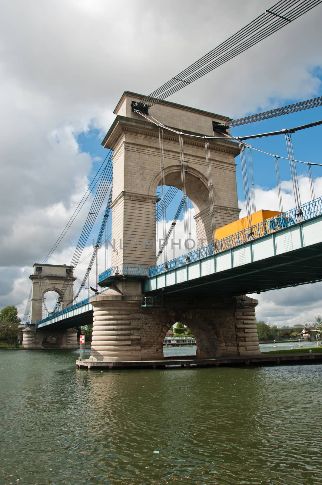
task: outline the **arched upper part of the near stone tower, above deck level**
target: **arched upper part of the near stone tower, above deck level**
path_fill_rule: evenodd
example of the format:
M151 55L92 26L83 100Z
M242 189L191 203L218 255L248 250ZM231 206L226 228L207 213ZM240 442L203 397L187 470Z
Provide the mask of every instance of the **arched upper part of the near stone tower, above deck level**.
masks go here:
M155 124L132 111L132 102L140 99L142 97L137 94L123 94L114 111L116 118L102 142L105 148L114 151L111 208L112 238L116 242L117 254L112 253L112 266L156 264L155 249L148 243L156 237L156 189L161 184L159 131ZM218 114L168 101L161 101L150 108L149 114L164 125L208 136L220 136L213 131L213 121L224 124L229 121L229 118ZM178 135L164 130L163 137L165 184L181 190ZM186 194L193 203L197 240L202 245L202 240L205 244L213 238L205 142L200 138L188 137L183 141ZM235 173L235 157L238 154L238 145L224 135L222 139L210 143L217 227L239 218ZM130 241L133 241L132 246Z

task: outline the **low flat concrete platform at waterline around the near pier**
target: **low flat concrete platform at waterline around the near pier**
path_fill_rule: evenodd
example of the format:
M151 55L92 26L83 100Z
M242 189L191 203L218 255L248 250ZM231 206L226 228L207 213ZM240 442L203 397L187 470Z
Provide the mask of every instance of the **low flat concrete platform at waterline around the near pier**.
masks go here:
M87 369L176 369L178 367L219 367L244 365L291 365L322 363L322 354L276 354L258 356L218 357L202 359L193 357L164 357L161 360L127 360L117 362L93 362L90 359L76 360L78 368Z

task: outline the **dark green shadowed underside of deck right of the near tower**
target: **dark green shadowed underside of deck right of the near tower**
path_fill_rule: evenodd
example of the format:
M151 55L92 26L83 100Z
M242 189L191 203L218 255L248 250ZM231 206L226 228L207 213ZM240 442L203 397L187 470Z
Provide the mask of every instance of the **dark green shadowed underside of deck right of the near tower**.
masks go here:
M155 277L157 288L146 295L236 296L315 283L322 280L322 242L175 285L162 276Z

